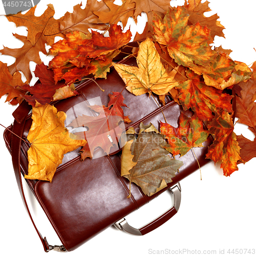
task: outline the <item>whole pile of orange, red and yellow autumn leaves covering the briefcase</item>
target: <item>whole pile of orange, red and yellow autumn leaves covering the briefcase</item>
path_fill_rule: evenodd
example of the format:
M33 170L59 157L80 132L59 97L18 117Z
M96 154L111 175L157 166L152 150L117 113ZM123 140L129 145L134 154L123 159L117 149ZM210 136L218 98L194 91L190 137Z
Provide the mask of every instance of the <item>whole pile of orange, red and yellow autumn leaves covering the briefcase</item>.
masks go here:
M245 63L232 60L230 50L222 47L212 49L209 46L216 35L224 37L224 27L217 20L217 14L204 16L204 12L210 11L208 4L207 1L202 4L201 0L188 0L184 6L172 8L168 0L127 0L121 6L114 4L114 0L88 0L86 8L76 5L73 13L67 12L59 19L53 18L52 5L40 17L34 15L35 7L26 14L7 16L16 26L26 26L28 35L14 34L24 42L22 48L4 47L0 51L16 58L9 67L0 62L0 97L8 94L6 101L10 104L27 100L33 106L33 124L28 136L30 151L37 148L33 142L33 133L51 132L51 138L40 143L42 147L54 140L52 131L56 127L61 127L60 133L67 133L62 114L58 114L61 118L56 114L46 114L46 111L56 112L49 103L77 95L74 83L84 76L108 79L110 67L114 66L129 92L136 96L145 93L152 97L158 95L163 105L164 97L169 95L184 110L191 109L194 112L192 117L181 113L178 128L161 122L160 131L151 124L141 124L138 135L134 130L127 131L130 139L123 147L121 175L141 186L148 196L166 186L166 182L171 182L182 164L168 154L172 153L173 157L183 156L193 147L202 146L209 135L214 138L214 142L209 146L206 157L215 163L221 161L225 176L238 170L238 163L245 163L255 157L255 140L250 141L242 135L237 137L233 132L233 120L237 117L238 122L248 125L256 135L256 64L249 68ZM121 22L125 27L129 17L137 23L142 11L147 14L147 23L142 34L136 33L134 41L138 42L138 47L130 54L132 58L136 57L137 67L114 63L113 59L132 38L130 30L123 32L117 23ZM55 36L63 39L54 43ZM46 45L51 46L49 52L46 51ZM49 66L42 63L39 52L53 55ZM37 63L34 74L39 78L33 87L29 86L32 78L30 61ZM22 81L20 72L25 75L26 82ZM233 96L228 93L230 90ZM121 108L126 106L122 94L114 92L110 94L110 99L108 106L92 106L92 110L103 113L108 119L105 122L111 120L113 125L121 120L129 123L129 118L124 116ZM234 107L236 112L233 111ZM89 136L94 138L94 132L98 129L95 120L86 115L78 118L76 122L79 121L81 125L85 122L91 125ZM34 131L40 127L38 122L44 123L44 131ZM208 130L203 129L203 123ZM109 139L104 138L103 134L105 131L100 132L101 139L93 144L93 148L100 146L109 154L112 144L108 144ZM118 136L121 136L121 132ZM137 142L141 136L145 144ZM155 138L158 141L161 138L161 144L155 145ZM82 160L93 157L86 140L77 140L76 145L68 146L70 143L67 139L67 145L60 155L56 153L59 148L53 147L49 157L40 159L40 166L29 152L27 178L51 181L63 154L79 146L83 146ZM155 155L154 148L161 153ZM144 158L145 150L151 152L151 158ZM49 165L48 162L55 164ZM150 172L148 168L140 166L142 163L151 168ZM146 180L140 180L138 177L145 172Z

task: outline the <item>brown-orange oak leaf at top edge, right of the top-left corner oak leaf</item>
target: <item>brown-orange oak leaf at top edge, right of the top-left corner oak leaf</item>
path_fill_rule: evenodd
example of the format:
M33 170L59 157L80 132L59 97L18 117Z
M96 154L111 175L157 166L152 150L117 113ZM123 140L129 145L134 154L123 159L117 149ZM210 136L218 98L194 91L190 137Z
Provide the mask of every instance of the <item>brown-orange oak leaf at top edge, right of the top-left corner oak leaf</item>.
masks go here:
M81 8L82 4L74 6L73 13L67 12L63 20L60 21L60 30L63 33L69 31L80 31L89 33L89 28L105 30L107 25L102 23L94 14L96 11L108 11L108 6L103 1L87 0L86 8Z

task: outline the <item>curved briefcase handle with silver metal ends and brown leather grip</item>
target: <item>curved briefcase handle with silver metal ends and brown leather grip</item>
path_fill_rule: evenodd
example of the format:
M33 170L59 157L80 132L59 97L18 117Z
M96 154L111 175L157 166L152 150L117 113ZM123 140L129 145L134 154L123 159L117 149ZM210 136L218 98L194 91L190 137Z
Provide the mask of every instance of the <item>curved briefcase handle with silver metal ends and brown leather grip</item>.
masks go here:
M122 231L130 233L130 234L135 234L136 236L144 236L144 234L147 234L147 233L153 231L154 229L160 227L167 220L172 218L180 208L180 201L181 201L180 183L178 182L173 187L170 187L169 190L171 191L172 195L174 196L173 206L170 207L167 211L165 211L161 216L159 216L155 220L153 220L150 223L137 229L137 228L130 226L127 223L127 221L125 220L125 218L123 218L123 219L117 221L114 224L114 226L119 230L122 230Z

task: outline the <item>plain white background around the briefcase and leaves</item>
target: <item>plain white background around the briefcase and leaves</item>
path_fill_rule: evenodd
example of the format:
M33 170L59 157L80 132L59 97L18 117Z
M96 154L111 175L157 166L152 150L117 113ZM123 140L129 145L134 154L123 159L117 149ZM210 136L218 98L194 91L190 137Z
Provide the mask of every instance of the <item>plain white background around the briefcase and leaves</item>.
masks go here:
M182 4L182 1L175 0L171 3L175 5L176 2ZM223 48L233 50L230 54L233 60L250 65L256 60L256 52L253 50L253 47L256 48L256 2L253 0L209 0L209 2L213 10L212 14L218 13L221 24L226 28L224 30L226 39L216 38L216 46L222 45ZM59 18L67 11L72 12L73 6L80 3L80 0L42 0L36 9L36 15L41 15L47 8L46 5L50 3L55 7L54 17ZM82 1L82 3L86 2ZM0 14L4 14L1 4ZM0 49L3 49L3 46L22 47L22 43L17 42L12 33L26 35L26 29L16 29L13 23L0 16ZM8 65L14 62L12 58L6 56L0 56L0 60ZM33 65L31 68L33 69ZM8 126L13 122L11 114L15 106L4 102L5 97L2 97L0 123ZM244 136L253 140L254 136L247 131L246 126L236 125L235 128L237 135L243 131ZM0 132L1 134L4 132L2 127ZM20 199L11 156L5 147L3 136L0 137L0 150L1 254L46 255ZM70 254L148 255L149 252L157 253L157 250L165 249L188 249L191 254L193 252L196 254L195 250L200 250L201 253L204 250L216 250L219 254L220 249L224 249L226 255L232 255L227 253L228 249L256 249L255 165L256 160L253 158L245 165L240 164L239 171L233 173L231 177L224 177L220 165L215 166L210 162L202 168L202 181L197 171L181 182L182 200L178 214L163 226L143 237L131 236L110 227ZM168 194L164 193L163 196L147 204L146 210L142 207L136 211L136 216L129 216L127 220L139 228L169 206ZM36 211L36 216L44 217L39 210ZM36 222L50 244L59 244L47 221L38 220L37 217ZM56 255L57 252L49 253Z

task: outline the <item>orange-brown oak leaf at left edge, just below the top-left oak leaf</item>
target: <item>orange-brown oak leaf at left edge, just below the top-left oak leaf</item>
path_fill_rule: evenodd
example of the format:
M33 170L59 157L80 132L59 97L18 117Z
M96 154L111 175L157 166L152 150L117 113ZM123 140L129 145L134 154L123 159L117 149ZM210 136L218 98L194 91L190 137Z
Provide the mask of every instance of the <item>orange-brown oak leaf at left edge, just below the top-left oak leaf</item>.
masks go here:
M41 64L42 61L39 56L39 52L47 54L45 44L47 44L46 38L43 34L38 33L36 35L36 42L33 46L26 36L14 34L14 36L24 42L24 46L18 49L10 49L4 47L0 50L2 54L11 55L16 58L15 62L8 67L10 73L13 75L16 71L22 71L27 81L32 79L32 74L29 68L29 62L34 61L37 64Z

